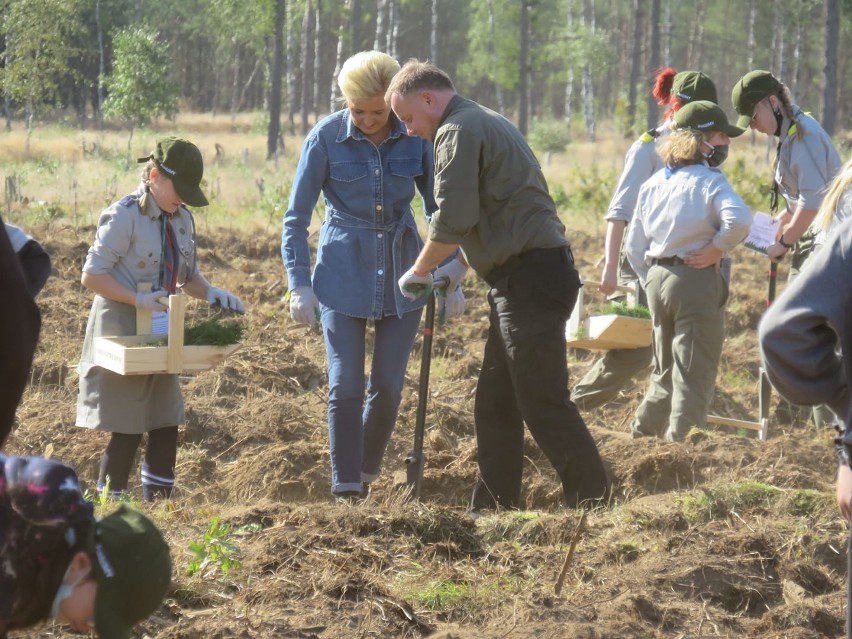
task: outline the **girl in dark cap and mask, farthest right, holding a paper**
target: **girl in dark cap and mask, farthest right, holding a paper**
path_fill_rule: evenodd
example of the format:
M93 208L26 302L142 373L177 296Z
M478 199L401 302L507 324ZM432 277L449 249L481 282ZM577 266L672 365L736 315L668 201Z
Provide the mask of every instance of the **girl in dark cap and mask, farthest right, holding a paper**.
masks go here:
M769 71L746 73L734 85L731 101L740 116L739 126L778 138L770 209L774 214L781 208L777 216L781 223L767 254L779 260L790 253L788 281L792 281L814 250L818 230L812 223L840 170L840 155L828 133L793 102L787 86ZM820 428L838 421L825 404L813 407L812 419Z

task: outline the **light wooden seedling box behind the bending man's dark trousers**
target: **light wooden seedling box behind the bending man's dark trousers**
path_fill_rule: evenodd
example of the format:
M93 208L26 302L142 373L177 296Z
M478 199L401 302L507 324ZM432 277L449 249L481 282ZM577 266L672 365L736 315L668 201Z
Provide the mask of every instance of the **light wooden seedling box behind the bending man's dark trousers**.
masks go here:
M638 287L619 286L628 294L627 304L611 304L614 312L599 315L584 313L583 289L565 326L565 339L570 348L609 350L613 348L642 348L651 345L652 323L645 307L637 306Z

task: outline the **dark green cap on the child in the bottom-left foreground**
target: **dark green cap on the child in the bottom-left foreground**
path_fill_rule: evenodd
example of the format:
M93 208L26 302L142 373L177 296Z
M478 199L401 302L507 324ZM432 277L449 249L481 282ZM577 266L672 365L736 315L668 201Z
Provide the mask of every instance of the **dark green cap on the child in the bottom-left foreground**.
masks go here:
M98 636L127 639L133 625L154 612L168 592L169 546L150 519L122 505L91 527L87 550L98 583Z

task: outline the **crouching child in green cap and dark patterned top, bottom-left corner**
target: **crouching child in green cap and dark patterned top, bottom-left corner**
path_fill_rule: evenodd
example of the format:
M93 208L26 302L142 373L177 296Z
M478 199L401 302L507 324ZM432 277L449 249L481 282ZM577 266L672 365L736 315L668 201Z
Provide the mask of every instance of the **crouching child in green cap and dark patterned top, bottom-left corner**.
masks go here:
M49 619L126 639L170 581L169 547L145 515L122 505L98 519L71 467L0 453L0 639Z

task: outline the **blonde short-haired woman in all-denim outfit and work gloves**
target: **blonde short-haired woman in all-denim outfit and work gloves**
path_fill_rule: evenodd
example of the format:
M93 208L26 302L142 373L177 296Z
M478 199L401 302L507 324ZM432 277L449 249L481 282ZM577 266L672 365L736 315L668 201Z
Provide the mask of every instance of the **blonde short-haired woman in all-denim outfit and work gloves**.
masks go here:
M425 304L396 287L423 246L411 208L415 189L427 217L436 208L432 146L407 135L385 101L398 69L379 51L346 60L337 79L346 106L305 139L281 241L290 314L321 325L325 338L331 492L349 501L366 497L381 471ZM311 275L308 227L320 193L325 219ZM464 269L456 264L442 269L450 279L449 293L439 297L447 318L465 308ZM365 388L369 323L375 341Z

